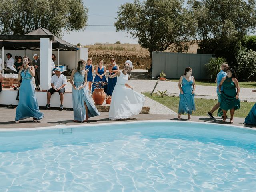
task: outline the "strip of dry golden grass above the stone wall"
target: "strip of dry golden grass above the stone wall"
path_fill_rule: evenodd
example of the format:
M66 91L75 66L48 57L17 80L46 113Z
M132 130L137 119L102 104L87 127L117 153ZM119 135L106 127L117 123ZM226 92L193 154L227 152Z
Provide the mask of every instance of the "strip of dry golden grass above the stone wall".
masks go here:
M90 51L135 51L135 52L147 52L148 50L142 48L139 44L106 44L106 45L85 45Z

